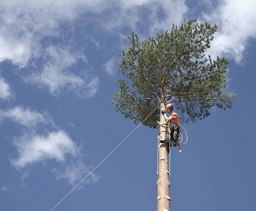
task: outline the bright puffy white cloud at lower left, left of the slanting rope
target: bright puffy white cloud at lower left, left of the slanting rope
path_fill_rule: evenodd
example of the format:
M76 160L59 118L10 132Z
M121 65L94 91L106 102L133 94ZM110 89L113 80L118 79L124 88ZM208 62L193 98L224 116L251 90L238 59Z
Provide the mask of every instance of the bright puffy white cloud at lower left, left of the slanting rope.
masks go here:
M48 133L47 136L25 135L14 141L18 150L18 158L12 159L15 168L24 168L29 164L56 159L64 161L65 155L76 156L78 148L63 130Z

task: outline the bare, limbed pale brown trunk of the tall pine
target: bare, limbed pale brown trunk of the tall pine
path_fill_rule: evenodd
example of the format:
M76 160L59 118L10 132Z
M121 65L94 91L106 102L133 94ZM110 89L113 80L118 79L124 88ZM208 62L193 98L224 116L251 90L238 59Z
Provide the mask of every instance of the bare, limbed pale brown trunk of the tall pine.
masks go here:
M165 110L164 103L161 103L161 110ZM161 111L160 111L161 112ZM159 140L166 138L166 120L163 114L160 114L160 135ZM162 127L164 126L164 127ZM157 211L169 211L170 210L170 181L168 172L168 158L167 158L167 147L163 143L158 145L158 181L157 181ZM170 150L170 149L169 149ZM169 152L171 153L171 152Z

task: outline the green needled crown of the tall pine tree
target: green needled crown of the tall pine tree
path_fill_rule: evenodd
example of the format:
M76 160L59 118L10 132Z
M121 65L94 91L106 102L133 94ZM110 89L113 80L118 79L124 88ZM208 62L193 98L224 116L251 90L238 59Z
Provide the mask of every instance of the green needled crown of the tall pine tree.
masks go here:
M223 92L229 61L205 55L217 28L195 19L180 27L173 24L170 31L142 42L132 33L129 49L119 53L118 71L127 79L117 80L120 90L111 101L115 110L138 123L167 102L179 113L180 122L204 119L213 106L231 108L236 95ZM159 114L154 112L143 124L157 127Z

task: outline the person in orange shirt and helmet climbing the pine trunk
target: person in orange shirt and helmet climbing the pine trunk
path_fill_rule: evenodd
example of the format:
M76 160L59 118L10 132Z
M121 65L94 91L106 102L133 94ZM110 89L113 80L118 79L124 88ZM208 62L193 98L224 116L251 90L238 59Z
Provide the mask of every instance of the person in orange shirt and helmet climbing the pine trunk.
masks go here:
M176 146L177 141L179 141L180 136L180 126L179 126L179 116L177 113L173 112L173 105L167 104L166 106L167 113L170 114L169 117L166 115L166 111L161 111L164 115L164 119L168 120L169 129L166 130L166 139L160 140L160 143L167 143L168 141L173 142L173 146ZM171 134L170 134L170 132Z

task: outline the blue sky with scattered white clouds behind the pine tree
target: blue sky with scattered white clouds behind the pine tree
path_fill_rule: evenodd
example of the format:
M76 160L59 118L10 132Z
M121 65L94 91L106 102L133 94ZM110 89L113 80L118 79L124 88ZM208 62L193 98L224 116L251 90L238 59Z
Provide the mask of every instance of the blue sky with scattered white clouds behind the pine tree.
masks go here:
M218 25L207 53L229 59L226 91L239 98L183 124L170 210L255 210L255 10L254 0L1 0L0 210L52 210L135 129L110 104L118 53L132 31L142 41L191 18ZM54 211L156 210L157 136L139 126Z

